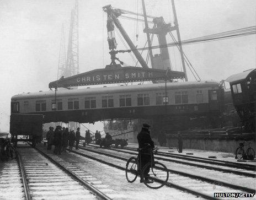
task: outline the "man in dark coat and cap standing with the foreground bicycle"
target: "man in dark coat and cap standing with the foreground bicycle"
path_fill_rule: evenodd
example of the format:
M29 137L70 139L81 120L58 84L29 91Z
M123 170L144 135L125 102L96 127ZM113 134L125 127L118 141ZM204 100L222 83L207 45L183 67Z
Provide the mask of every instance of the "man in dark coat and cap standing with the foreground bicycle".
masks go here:
M150 163L151 161L151 150L152 148L154 148L154 142L150 137L150 131L149 131L150 125L148 125L147 123L143 123L142 125L142 129L141 132L138 133L137 135L137 139L138 139L138 148L142 149L141 150L141 169L143 169L143 167L147 164ZM150 145L148 145L150 144ZM148 172L150 172L150 167L148 167L148 169L146 170L146 174L147 176L145 176L145 181L148 183L152 183L152 180L148 180ZM143 180L141 179L140 182L143 182Z

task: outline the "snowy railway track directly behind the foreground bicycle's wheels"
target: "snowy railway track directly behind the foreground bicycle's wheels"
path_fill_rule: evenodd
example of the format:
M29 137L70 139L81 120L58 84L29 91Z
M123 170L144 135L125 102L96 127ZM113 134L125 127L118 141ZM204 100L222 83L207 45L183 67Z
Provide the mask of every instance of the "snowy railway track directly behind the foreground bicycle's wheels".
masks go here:
M81 151L72 151L75 154L84 156L89 159L96 160L100 163L115 167L120 170L125 170L127 157L112 155L108 153L98 152L97 150L82 148L86 150L85 153ZM163 163L165 164L165 163ZM168 167L167 167L168 168ZM174 187L179 190L187 191L196 196L201 196L207 199L213 198L214 192L254 192L253 188L242 187L239 185L233 185L228 182L221 182L217 180L207 179L196 175L186 174L184 172L168 169L170 172L169 181L167 187ZM185 185L185 186L184 186Z

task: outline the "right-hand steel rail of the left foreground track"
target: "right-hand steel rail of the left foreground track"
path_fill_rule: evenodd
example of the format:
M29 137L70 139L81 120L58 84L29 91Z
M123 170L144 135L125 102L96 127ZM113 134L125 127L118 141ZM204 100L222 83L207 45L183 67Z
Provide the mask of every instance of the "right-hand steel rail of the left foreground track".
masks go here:
M84 187L86 187L87 189L89 189L90 191L92 191L96 196L105 199L105 200L110 200L111 198L108 197L106 194L104 194L103 192L99 191L97 188L95 188L94 186L90 185L89 182L81 179L81 177L77 176L76 174L74 174L71 170L67 169L67 167L63 166L62 164L58 163L56 160L54 160L53 158L51 158L49 155L45 154L44 152L42 152L40 149L36 148L35 149L43 156L45 156L47 159L49 159L52 163L54 163L55 165L57 165L58 167L60 167L60 169L62 169L63 171L65 171L68 175L72 176L75 180L77 180L78 182L82 183L82 185Z

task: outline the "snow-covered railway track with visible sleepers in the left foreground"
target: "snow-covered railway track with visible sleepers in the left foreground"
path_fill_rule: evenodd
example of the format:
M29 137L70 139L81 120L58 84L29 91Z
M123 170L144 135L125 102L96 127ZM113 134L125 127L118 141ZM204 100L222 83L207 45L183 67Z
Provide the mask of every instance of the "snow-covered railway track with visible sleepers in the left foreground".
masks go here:
M87 180L90 175L57 156L18 148L26 199L110 199Z

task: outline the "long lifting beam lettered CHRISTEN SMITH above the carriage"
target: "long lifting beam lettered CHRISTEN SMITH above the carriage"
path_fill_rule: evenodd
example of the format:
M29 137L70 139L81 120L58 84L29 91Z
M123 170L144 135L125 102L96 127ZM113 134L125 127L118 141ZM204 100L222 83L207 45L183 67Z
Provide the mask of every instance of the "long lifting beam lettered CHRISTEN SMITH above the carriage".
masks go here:
M140 82L146 80L184 78L184 72L166 71L141 67L118 67L95 69L93 71L60 78L49 83L49 88L73 87L79 85L96 85L108 83Z

